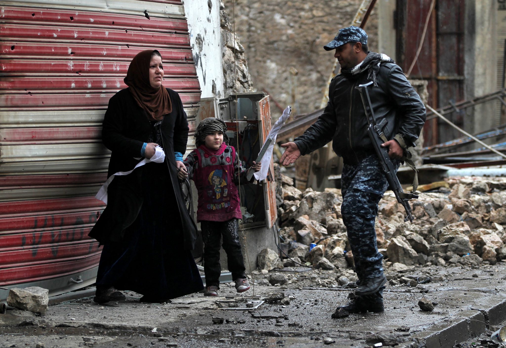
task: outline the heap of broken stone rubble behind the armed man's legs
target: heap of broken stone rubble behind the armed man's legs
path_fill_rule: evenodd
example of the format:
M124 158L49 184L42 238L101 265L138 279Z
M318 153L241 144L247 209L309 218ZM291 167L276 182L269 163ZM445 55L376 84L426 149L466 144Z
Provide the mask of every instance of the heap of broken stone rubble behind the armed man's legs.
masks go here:
M376 238L387 274L406 273L424 265L494 265L506 258L506 179L462 177L447 182L449 189L420 193L419 199L410 202L415 218L412 223L403 221L404 208L392 192L387 191L380 201ZM283 266L305 265L336 272L353 269L340 213L341 190L301 192L284 175L280 184L280 248L287 250L287 255L281 253ZM310 250L312 243L316 246ZM266 269L273 270L274 264L271 260ZM403 278L392 279L391 284L416 283ZM269 282L281 284L274 276ZM338 282L346 285L349 279Z

